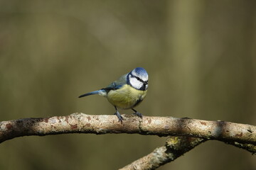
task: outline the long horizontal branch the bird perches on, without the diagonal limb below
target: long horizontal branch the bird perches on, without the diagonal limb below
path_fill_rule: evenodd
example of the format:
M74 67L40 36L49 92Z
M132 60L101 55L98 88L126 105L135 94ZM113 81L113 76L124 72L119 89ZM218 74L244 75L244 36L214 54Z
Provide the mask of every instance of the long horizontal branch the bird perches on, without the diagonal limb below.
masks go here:
M253 125L189 118L144 116L140 119L134 115L123 115L123 117L123 123L118 122L115 115L85 115L83 113L3 121L0 123L0 142L30 135L139 133L158 136L185 135L256 145L256 126Z

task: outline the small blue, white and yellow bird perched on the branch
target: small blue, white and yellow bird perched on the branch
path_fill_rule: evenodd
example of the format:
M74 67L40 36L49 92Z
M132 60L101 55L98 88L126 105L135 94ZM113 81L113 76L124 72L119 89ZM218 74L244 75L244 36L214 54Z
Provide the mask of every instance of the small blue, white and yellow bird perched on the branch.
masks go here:
M100 89L98 91L92 91L87 94L82 94L79 96L85 97L92 94L99 94L100 96L105 96L107 100L114 106L115 113L119 121L124 120L122 115L120 115L117 108L122 109L132 109L135 115L142 118L142 113L137 112L134 107L138 106L139 103L143 101L146 96L146 91L148 89L149 75L146 70L142 67L137 67L131 72L124 74L122 77L112 82L107 87Z

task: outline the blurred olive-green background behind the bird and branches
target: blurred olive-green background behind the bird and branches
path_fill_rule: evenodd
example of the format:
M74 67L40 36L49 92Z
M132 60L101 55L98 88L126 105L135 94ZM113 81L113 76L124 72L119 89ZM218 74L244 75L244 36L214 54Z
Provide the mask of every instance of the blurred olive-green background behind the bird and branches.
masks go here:
M144 115L256 124L256 1L0 1L1 120L114 113L78 98L135 67ZM132 111L122 111L130 114ZM0 169L118 169L166 137L55 135L0 145ZM256 169L209 141L160 169Z

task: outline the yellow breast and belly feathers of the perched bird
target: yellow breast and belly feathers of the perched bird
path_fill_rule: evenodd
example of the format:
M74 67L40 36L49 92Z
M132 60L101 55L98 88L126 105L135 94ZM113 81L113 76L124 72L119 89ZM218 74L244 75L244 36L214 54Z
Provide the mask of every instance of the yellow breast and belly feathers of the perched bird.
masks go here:
M134 108L146 96L146 91L139 91L125 84L122 88L107 93L107 100L118 108Z

